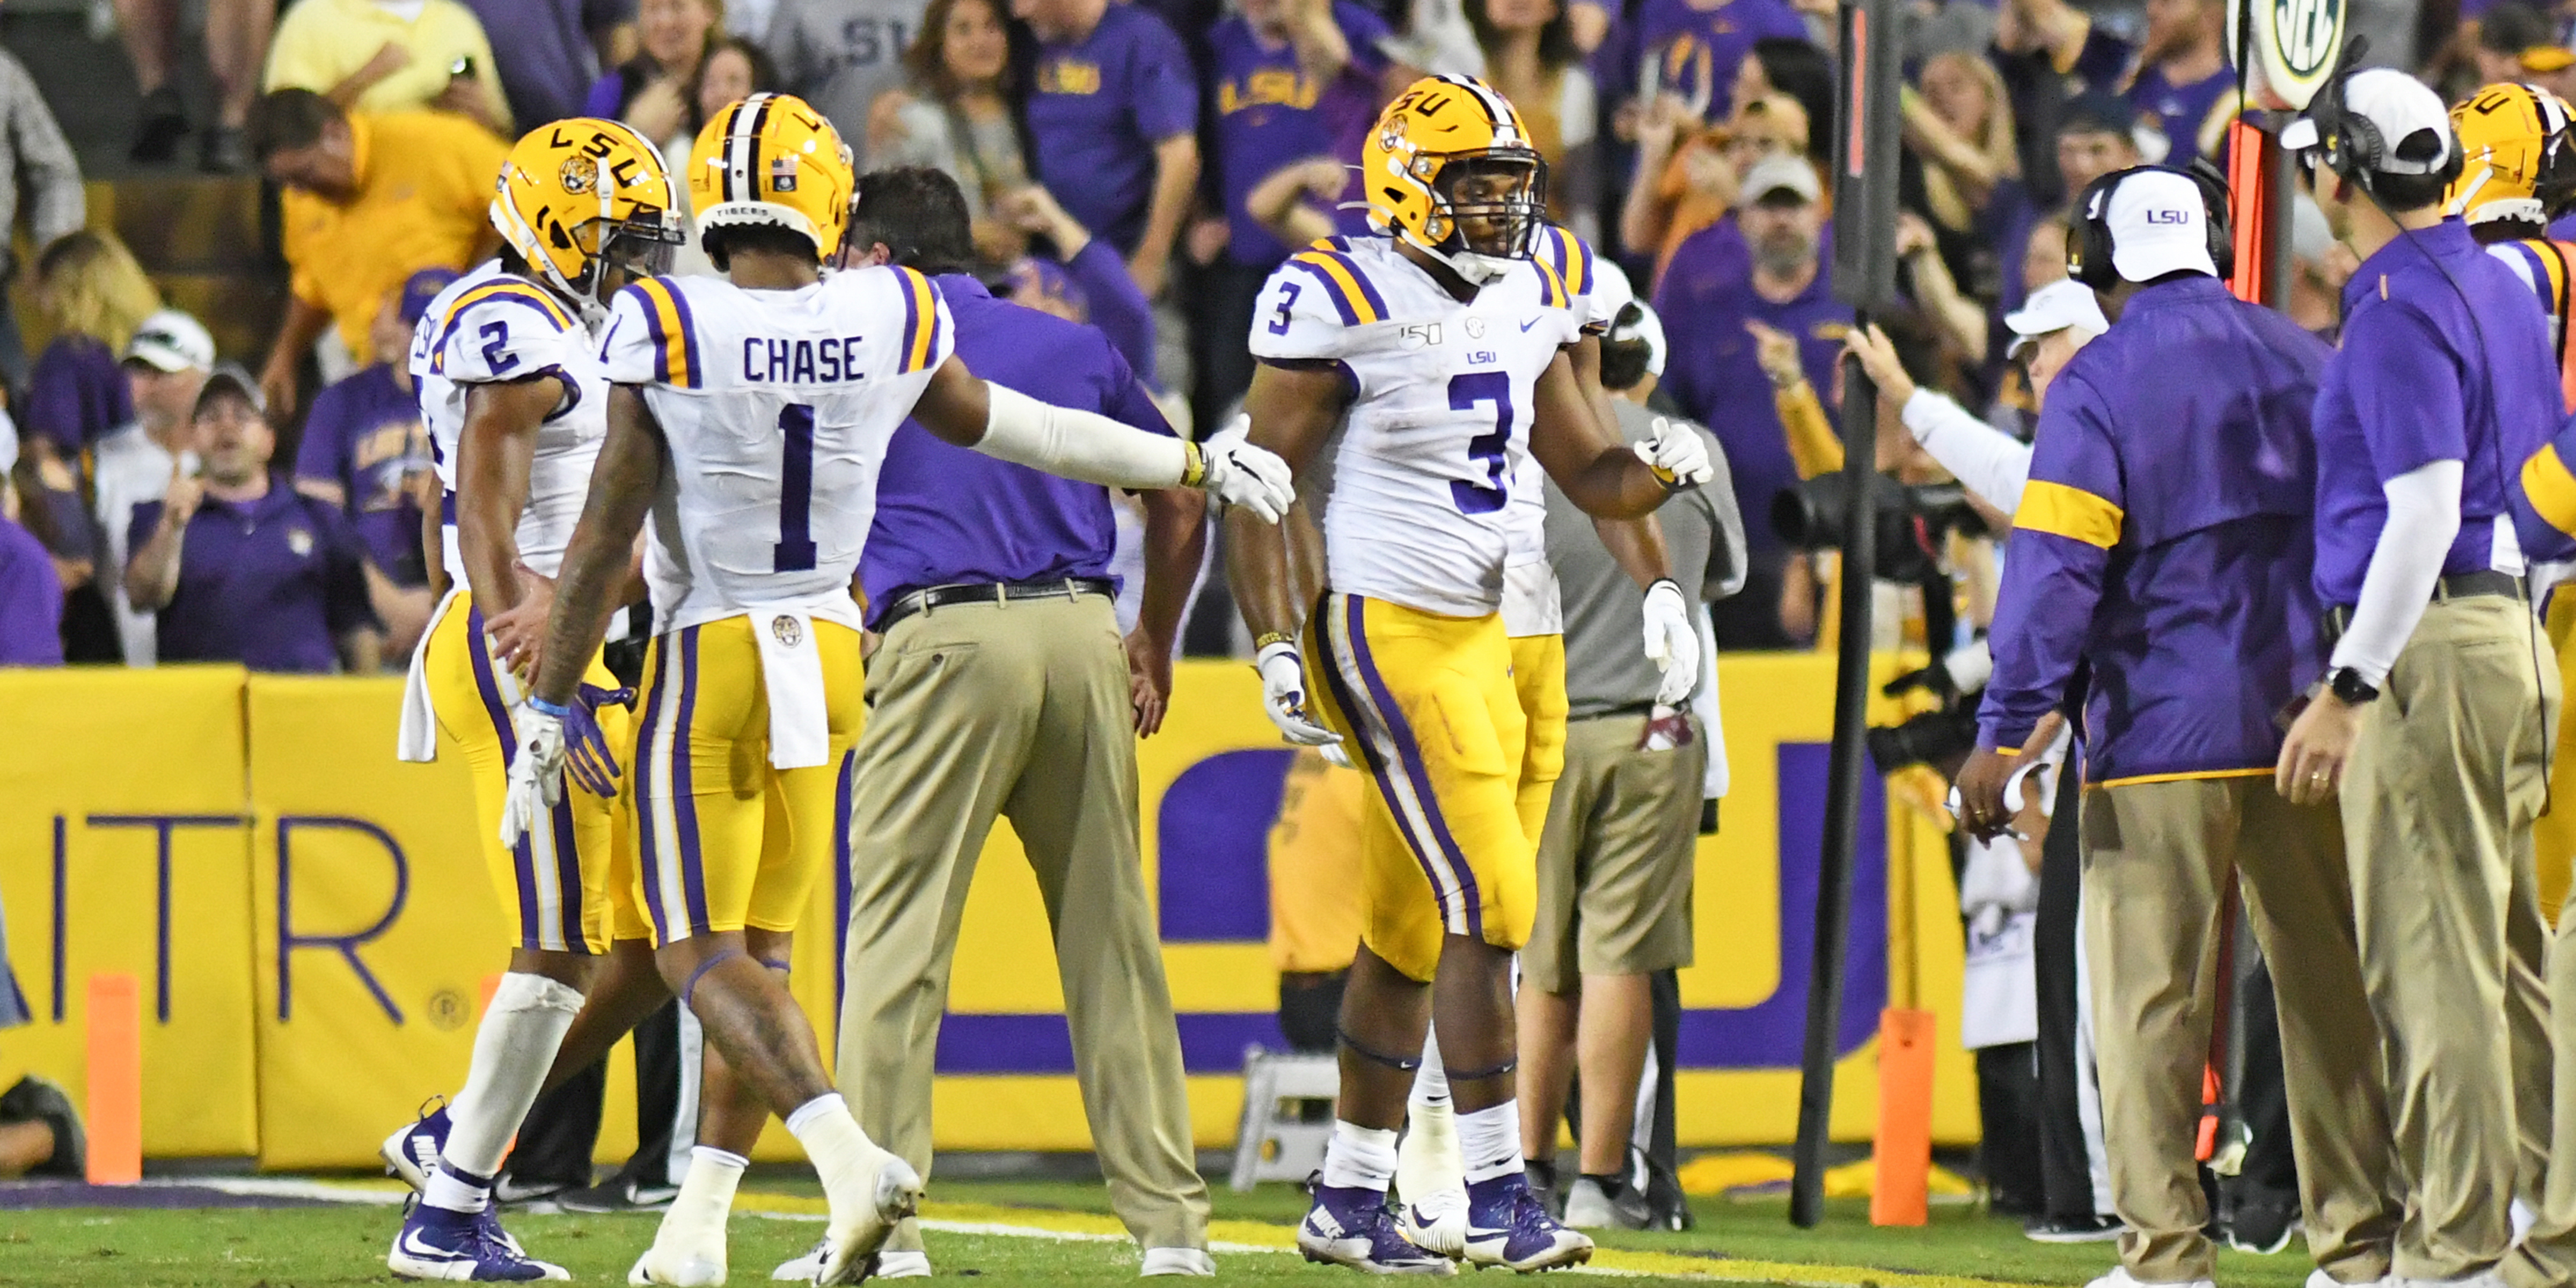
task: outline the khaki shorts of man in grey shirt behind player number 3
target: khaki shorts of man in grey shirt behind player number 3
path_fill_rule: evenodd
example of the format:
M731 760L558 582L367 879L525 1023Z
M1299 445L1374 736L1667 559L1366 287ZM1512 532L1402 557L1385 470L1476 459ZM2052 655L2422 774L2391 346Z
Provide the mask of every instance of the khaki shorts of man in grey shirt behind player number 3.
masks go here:
M1646 716L1566 724L1538 842L1538 917L1520 976L1574 994L1587 974L1690 966L1690 878L1708 747L1649 752ZM1705 734L1703 734L1705 737Z

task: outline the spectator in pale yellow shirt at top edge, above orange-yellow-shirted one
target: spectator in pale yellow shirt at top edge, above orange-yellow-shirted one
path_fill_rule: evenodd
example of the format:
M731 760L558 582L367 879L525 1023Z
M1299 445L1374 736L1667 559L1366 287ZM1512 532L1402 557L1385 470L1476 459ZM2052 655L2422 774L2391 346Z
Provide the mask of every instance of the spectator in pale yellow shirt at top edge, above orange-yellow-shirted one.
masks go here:
M510 134L492 41L456 0L299 0L260 88L314 90L340 111L440 108Z

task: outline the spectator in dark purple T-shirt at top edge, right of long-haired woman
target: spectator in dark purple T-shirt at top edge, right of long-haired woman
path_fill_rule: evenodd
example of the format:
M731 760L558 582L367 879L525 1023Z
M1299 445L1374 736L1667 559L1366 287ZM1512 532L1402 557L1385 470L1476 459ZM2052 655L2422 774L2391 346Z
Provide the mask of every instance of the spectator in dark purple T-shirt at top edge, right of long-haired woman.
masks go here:
M1151 10L1110 0L1012 0L1041 41L1030 160L1082 227L1154 299L1198 188L1198 72Z

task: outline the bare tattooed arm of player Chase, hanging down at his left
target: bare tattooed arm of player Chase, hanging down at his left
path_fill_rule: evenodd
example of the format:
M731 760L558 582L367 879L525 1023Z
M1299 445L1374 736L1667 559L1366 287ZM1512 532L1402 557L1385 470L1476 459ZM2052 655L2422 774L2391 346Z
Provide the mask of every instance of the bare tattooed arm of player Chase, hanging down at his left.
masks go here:
M667 461L670 446L644 394L629 384L611 386L608 438L600 443L600 461L590 466L590 500L582 502L582 523L572 528L572 546L554 582L554 616L533 685L538 698L569 706L582 667L600 652Z

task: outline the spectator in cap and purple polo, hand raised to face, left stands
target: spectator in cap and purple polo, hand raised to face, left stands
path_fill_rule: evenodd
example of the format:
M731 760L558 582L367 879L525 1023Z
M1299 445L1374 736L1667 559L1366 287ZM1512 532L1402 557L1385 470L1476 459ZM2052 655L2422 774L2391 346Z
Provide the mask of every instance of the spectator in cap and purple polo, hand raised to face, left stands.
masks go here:
M260 386L222 366L196 397L201 477L134 507L126 595L160 613L162 662L374 672L366 549L340 510L268 474L278 448Z

